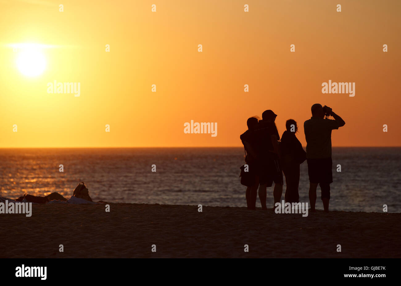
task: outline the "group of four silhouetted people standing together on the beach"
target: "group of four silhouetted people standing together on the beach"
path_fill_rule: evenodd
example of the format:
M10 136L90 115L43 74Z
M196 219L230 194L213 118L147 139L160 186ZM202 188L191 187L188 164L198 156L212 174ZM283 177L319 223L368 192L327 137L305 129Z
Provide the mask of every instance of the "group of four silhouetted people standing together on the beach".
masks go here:
M258 120L258 117L248 118L248 130L240 136L245 148L247 165L247 168L241 167L241 176L245 179L241 179L241 183L247 186L245 196L248 209L256 209L258 187L262 209L267 209L266 188L271 187L273 182L274 205L280 202L283 173L287 187L285 201L298 203L300 164L307 160L310 211L316 211L316 188L320 184L324 210L328 212L330 183L333 182L331 131L344 126L345 122L328 106L314 104L311 110L312 117L304 122L306 152L296 137L298 125L294 119L286 121L286 131L280 138L275 125L277 115L273 111L265 110L261 120ZM334 120L328 119L328 116L333 116Z

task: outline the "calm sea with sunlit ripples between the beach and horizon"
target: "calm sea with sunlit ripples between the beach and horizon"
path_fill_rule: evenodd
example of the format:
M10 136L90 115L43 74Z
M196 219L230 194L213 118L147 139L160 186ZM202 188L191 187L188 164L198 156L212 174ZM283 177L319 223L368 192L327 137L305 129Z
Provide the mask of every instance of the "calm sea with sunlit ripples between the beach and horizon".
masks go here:
M401 212L401 148L333 148L332 158L332 210L382 212L387 204L389 212ZM243 148L0 149L0 196L69 198L83 181L94 201L246 206L243 162ZM308 202L308 185L304 162L300 202ZM272 188L267 192L272 206Z

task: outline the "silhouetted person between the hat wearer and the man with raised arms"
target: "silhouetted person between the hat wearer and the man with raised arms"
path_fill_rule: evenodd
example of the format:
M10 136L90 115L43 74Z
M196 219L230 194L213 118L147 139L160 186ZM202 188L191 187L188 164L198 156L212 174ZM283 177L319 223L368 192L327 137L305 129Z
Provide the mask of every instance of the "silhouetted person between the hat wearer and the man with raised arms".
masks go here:
M306 160L306 152L295 136L298 125L294 119L286 121L286 131L279 143L280 162L286 176L286 202L299 202L298 186L300 182L300 164Z

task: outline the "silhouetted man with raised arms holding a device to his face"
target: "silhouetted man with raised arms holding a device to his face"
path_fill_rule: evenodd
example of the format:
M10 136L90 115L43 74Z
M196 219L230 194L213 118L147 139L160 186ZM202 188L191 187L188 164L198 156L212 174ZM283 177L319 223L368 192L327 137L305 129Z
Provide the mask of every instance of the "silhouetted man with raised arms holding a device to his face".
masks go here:
M316 212L316 188L320 184L324 211L328 212L330 183L333 182L331 130L344 126L345 122L328 106L322 107L321 104L316 103L312 105L311 110L312 117L304 122L310 211ZM328 119L328 116L333 116L334 120Z

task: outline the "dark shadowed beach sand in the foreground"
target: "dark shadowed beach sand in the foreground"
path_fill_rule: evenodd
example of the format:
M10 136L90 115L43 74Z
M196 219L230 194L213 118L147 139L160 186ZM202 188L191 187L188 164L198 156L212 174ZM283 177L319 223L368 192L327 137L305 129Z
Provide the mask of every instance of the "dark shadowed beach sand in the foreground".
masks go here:
M198 212L189 205L119 203L110 212L105 204L33 204L31 217L0 216L2 258L401 257L399 213L318 210L302 217L260 208Z

